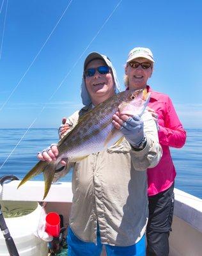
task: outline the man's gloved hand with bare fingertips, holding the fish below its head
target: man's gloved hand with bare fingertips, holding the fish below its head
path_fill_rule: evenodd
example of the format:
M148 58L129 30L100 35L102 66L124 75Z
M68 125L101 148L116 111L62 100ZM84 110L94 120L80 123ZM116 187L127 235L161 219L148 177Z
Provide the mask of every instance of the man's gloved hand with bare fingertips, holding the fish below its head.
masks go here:
M121 115L116 112L113 115L113 124L120 130L127 141L134 147L138 147L144 139L144 123L139 115Z

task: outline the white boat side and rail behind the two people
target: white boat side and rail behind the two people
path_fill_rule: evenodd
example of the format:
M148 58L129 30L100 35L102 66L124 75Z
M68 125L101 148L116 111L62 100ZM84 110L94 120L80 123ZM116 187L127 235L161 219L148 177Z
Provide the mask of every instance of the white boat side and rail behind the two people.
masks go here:
M42 201L44 182L28 181L17 189L19 180L3 185L0 200ZM72 184L56 182L52 184L45 198L47 212L56 211L63 215L64 226L72 205ZM175 189L175 211L169 237L170 256L201 256L202 252L202 200ZM104 253L103 253L104 255Z

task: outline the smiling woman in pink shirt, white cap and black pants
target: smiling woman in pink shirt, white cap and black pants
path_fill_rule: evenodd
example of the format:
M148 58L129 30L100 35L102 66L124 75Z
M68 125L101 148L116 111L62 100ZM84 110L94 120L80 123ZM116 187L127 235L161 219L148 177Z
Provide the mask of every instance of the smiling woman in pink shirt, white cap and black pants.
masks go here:
M128 54L125 67L125 85L129 88L147 88L151 92L148 106L159 126L162 159L155 168L148 169L149 219L146 231L147 255L169 255L169 232L173 220L175 166L169 147L181 148L186 132L180 123L171 99L153 92L147 85L153 71L153 54L148 48L136 47Z

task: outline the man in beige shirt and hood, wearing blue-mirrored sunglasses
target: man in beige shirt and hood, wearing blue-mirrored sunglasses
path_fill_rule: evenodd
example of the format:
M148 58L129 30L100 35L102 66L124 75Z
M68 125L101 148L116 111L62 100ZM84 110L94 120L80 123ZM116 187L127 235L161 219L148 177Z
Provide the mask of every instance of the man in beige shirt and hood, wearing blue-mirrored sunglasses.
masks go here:
M84 108L67 118L60 136L71 131L89 109L118 92L120 86L109 58L97 52L89 54L81 84ZM123 116L121 132L125 139L118 145L79 162L62 161L65 168L55 175L57 180L74 168L68 255L100 255L102 244L108 256L145 255L146 169L159 163L162 151L156 124L148 111L141 117ZM57 156L58 148L52 146L38 154L38 159L52 161Z

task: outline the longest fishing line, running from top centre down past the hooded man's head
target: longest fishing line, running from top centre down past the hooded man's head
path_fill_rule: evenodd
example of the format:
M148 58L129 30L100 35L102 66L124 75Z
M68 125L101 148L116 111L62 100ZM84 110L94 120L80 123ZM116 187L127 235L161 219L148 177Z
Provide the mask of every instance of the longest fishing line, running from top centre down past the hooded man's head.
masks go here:
M91 40L91 42L89 42L89 44L87 45L86 49L84 49L84 51L82 52L81 56L79 56L78 60L75 61L73 67L70 69L70 71L66 74L65 78L61 81L61 83L59 84L59 86L56 88L55 92L52 93L52 95L50 96L48 102L45 103L45 105L43 106L43 108L41 109L40 113L38 113L38 116L36 116L35 120L31 123L31 125L29 125L29 127L27 128L26 132L22 135L22 138L20 138L19 142L17 143L17 145L15 146L15 148L17 148L17 146L20 144L20 142L22 141L22 139L24 138L24 136L27 134L27 132L29 131L29 129L31 129L31 127L33 126L33 124L35 124L36 120L38 119L38 117L41 115L41 113L43 112L43 110L46 108L47 104L49 103L49 101L52 99L52 97L55 95L55 93L59 90L59 88L61 87L61 85L64 83L64 81L66 80L66 77L69 76L70 72L72 72L73 68L77 65L77 63L79 62L79 60L82 58L82 56L84 55L84 53L87 51L87 49L89 48L89 46L92 44L92 42L95 40L95 38L97 38L97 36L99 35L100 31L102 30L102 28L104 28L105 24L108 22L108 20L112 17L113 13L116 11L116 9L118 8L118 6L120 5L120 3L123 0L120 0L118 2L118 4L116 5L116 7L114 8L113 12L111 12L111 14L109 15L109 17L107 17L107 19L105 20L104 24L101 26L101 28L98 30L97 34L93 37L93 39ZM10 153L10 155L6 158L6 160L4 161L4 163L1 165L1 168L4 166L4 164L7 162L7 160L9 159L9 157L12 155L13 151L15 150L15 148L13 148L12 152Z

